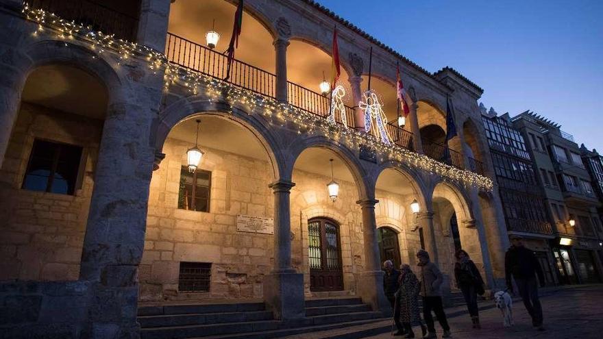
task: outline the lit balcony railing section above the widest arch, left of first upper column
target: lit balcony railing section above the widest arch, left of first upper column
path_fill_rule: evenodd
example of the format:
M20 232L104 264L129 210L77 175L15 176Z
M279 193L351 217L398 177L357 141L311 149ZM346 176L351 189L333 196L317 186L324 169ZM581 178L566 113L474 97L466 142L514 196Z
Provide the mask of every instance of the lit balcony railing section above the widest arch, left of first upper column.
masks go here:
M175 34L167 34L165 54L169 62L217 79L226 77L228 58L225 54ZM230 65L227 81L260 95L271 98L276 95L276 75L236 59Z

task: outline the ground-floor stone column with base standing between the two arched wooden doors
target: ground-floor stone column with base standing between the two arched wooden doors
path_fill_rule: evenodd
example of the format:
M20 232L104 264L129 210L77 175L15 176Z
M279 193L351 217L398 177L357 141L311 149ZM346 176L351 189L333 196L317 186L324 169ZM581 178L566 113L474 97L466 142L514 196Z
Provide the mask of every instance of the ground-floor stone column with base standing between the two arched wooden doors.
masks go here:
M358 294L362 301L371 305L374 311L391 313L391 306L383 291L383 271L379 260L377 242L377 221L375 218L376 199L357 201L362 208L362 235L365 244L365 271L358 281Z

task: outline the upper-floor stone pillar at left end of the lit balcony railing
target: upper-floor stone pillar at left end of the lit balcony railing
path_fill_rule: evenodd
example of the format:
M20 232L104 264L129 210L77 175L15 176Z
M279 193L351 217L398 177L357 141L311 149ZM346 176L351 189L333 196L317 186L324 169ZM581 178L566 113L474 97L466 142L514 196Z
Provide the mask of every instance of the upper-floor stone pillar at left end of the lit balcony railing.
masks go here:
M143 0L136 42L163 53L167 37L170 0Z

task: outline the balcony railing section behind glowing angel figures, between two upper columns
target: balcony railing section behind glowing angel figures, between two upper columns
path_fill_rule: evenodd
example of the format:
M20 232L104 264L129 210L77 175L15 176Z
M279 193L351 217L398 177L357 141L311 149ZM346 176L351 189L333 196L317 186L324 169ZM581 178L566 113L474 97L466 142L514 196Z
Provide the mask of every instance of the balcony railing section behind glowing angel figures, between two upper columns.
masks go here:
M291 81L287 81L287 101L297 108L326 117L330 114L330 99L328 96L309 90ZM345 106L347 127L354 128L354 108ZM343 123L341 114L335 114L335 121Z

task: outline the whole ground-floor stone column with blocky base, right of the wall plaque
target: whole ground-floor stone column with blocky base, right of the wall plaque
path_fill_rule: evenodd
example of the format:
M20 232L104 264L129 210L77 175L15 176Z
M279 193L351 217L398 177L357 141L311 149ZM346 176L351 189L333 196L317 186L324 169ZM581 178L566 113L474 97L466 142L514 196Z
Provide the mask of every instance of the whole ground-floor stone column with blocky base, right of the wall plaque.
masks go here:
M274 192L274 269L264 278L264 301L277 319L306 316L304 275L291 268L291 211L288 180L270 184Z

